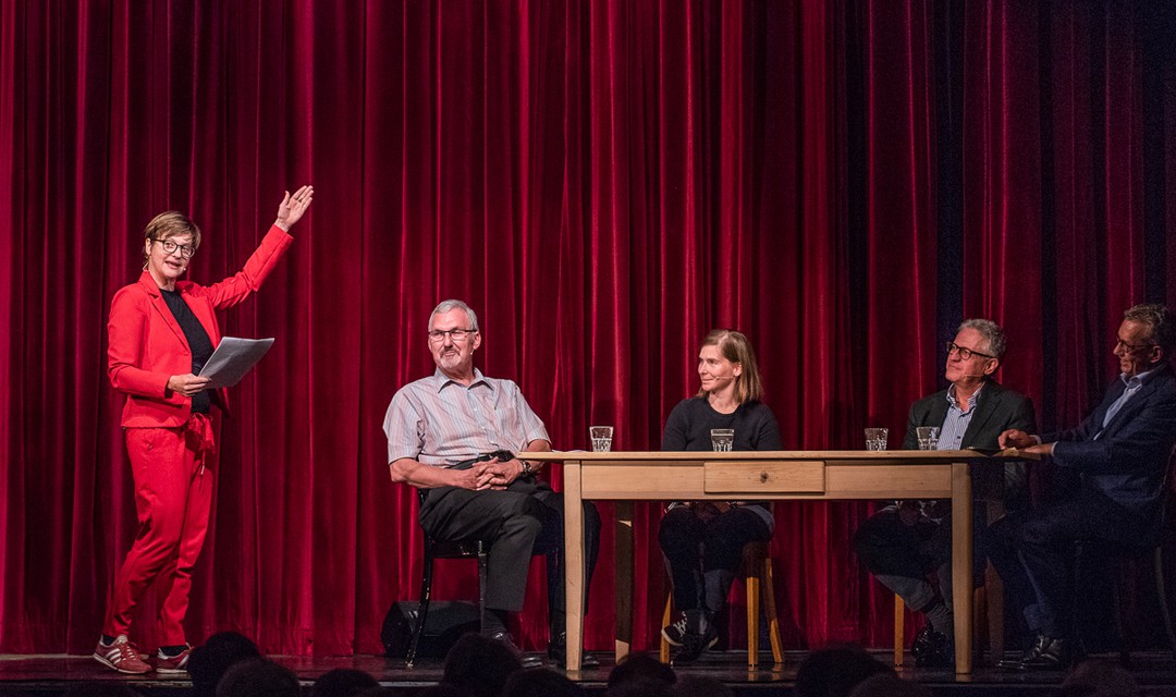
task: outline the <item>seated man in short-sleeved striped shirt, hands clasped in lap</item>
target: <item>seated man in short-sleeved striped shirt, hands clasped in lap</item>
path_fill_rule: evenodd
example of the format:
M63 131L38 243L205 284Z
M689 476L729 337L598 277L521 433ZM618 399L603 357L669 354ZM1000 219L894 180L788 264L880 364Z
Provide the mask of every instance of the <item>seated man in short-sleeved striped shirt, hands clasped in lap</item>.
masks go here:
M562 664L563 496L536 478L541 463L516 456L549 451L547 429L517 384L474 368L482 336L465 302L446 300L433 310L428 342L436 370L401 388L385 415L392 481L425 491L420 523L435 539L489 543L482 632L516 654L508 612L523 608L532 555L547 555L548 656ZM599 547L600 515L584 502L589 582Z

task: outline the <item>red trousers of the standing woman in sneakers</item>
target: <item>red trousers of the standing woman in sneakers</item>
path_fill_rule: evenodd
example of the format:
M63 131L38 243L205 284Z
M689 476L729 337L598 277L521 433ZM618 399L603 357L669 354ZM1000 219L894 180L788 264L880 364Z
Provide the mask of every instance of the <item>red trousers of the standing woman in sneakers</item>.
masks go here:
M128 634L131 614L153 583L165 596L161 645L185 643L192 567L208 531L215 442L212 420L194 414L181 428L126 429L139 534L118 575L102 634Z

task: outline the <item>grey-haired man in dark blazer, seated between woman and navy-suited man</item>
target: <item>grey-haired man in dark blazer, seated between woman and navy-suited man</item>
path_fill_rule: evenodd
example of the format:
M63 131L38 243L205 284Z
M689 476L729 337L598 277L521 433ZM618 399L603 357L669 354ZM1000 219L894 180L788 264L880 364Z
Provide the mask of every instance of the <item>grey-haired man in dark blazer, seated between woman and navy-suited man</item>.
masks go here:
M1004 331L995 322L967 320L960 324L955 340L947 346L944 377L951 384L911 404L903 448L918 448L916 429L924 425L940 428L934 445L938 450L995 450L997 437L1007 429L1036 430L1029 397L993 380L1005 344ZM1005 464L1003 473L974 470L973 476L975 568L982 574L988 507L1023 508L1028 492L1021 463ZM927 624L910 648L918 666L946 668L954 662L949 514L948 502L900 501L870 516L854 536L857 556L874 576L901 596L907 606L927 616ZM931 576L936 584L930 582Z

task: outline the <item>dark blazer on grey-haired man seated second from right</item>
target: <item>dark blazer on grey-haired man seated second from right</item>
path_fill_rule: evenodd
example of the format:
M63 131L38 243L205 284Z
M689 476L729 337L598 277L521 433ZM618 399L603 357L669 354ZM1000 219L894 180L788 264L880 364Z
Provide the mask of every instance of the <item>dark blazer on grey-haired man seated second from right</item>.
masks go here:
M1033 400L1021 393L1004 389L995 380L988 380L977 400L976 414L968 422L968 430L963 434L961 448L996 450L998 448L997 437L1010 428L1030 434L1037 433ZM902 440L902 447L907 450L918 449L918 436L915 434L915 428L920 425L942 427L947 416L948 390L940 390L911 404L910 415L907 417L907 436ZM982 471L974 469L976 498L1016 498L1021 503L1027 501L1023 463L1005 463L1003 482L995 477L976 476L977 474L982 474Z

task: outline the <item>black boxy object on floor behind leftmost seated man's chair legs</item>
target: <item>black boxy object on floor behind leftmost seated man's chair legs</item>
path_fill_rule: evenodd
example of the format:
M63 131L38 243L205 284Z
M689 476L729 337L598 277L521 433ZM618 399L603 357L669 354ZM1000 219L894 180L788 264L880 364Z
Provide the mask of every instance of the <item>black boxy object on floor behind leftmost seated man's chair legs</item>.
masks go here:
M421 617L417 605L415 601L401 601L388 609L380 639L389 658L408 657L413 631ZM421 634L416 657L443 658L461 635L476 632L479 629L477 606L473 603L433 601L429 603L428 617L425 618L425 631Z

